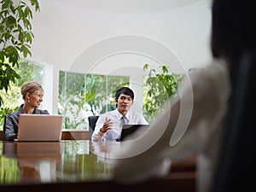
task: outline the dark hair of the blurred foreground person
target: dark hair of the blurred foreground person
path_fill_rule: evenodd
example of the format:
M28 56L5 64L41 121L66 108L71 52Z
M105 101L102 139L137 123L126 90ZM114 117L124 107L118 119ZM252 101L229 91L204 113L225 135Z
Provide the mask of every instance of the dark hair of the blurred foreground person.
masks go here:
M234 65L241 55L256 48L256 12L253 1L213 0L212 55Z

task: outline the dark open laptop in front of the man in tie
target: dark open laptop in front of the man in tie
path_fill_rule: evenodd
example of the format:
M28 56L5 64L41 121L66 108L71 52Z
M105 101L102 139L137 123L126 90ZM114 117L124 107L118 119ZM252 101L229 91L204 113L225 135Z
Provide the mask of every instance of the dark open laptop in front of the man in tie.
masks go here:
M123 125L120 141L128 141L143 135L150 125Z

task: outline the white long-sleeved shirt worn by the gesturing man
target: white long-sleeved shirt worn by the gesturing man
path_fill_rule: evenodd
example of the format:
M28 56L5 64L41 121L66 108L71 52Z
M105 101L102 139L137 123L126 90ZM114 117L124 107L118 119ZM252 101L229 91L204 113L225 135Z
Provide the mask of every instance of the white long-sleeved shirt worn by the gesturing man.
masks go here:
M92 140L111 140L115 141L119 139L123 127L122 118L123 115L119 113L118 109L113 111L109 111L107 113L101 114L99 119L96 122L95 131L93 132L91 138ZM111 119L113 125L111 126L111 130L108 130L104 133L103 137L99 137L100 130L106 120L106 118ZM134 111L129 110L126 115L126 124L129 125L148 125L146 119L144 119L143 115Z

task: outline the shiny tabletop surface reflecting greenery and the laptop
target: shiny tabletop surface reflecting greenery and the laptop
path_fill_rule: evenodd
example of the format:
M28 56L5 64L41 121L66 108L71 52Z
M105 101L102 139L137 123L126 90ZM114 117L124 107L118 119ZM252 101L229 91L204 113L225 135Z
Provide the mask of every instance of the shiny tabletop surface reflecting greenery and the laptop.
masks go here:
M0 183L55 183L109 179L111 149L119 143L0 143Z

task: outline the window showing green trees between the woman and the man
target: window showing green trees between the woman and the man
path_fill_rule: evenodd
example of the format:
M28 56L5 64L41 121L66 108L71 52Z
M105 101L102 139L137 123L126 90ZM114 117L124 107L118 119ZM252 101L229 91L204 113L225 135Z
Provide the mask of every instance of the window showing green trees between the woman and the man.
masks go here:
M115 91L129 81L128 76L60 71L58 113L64 129L88 130L88 117L113 110Z

